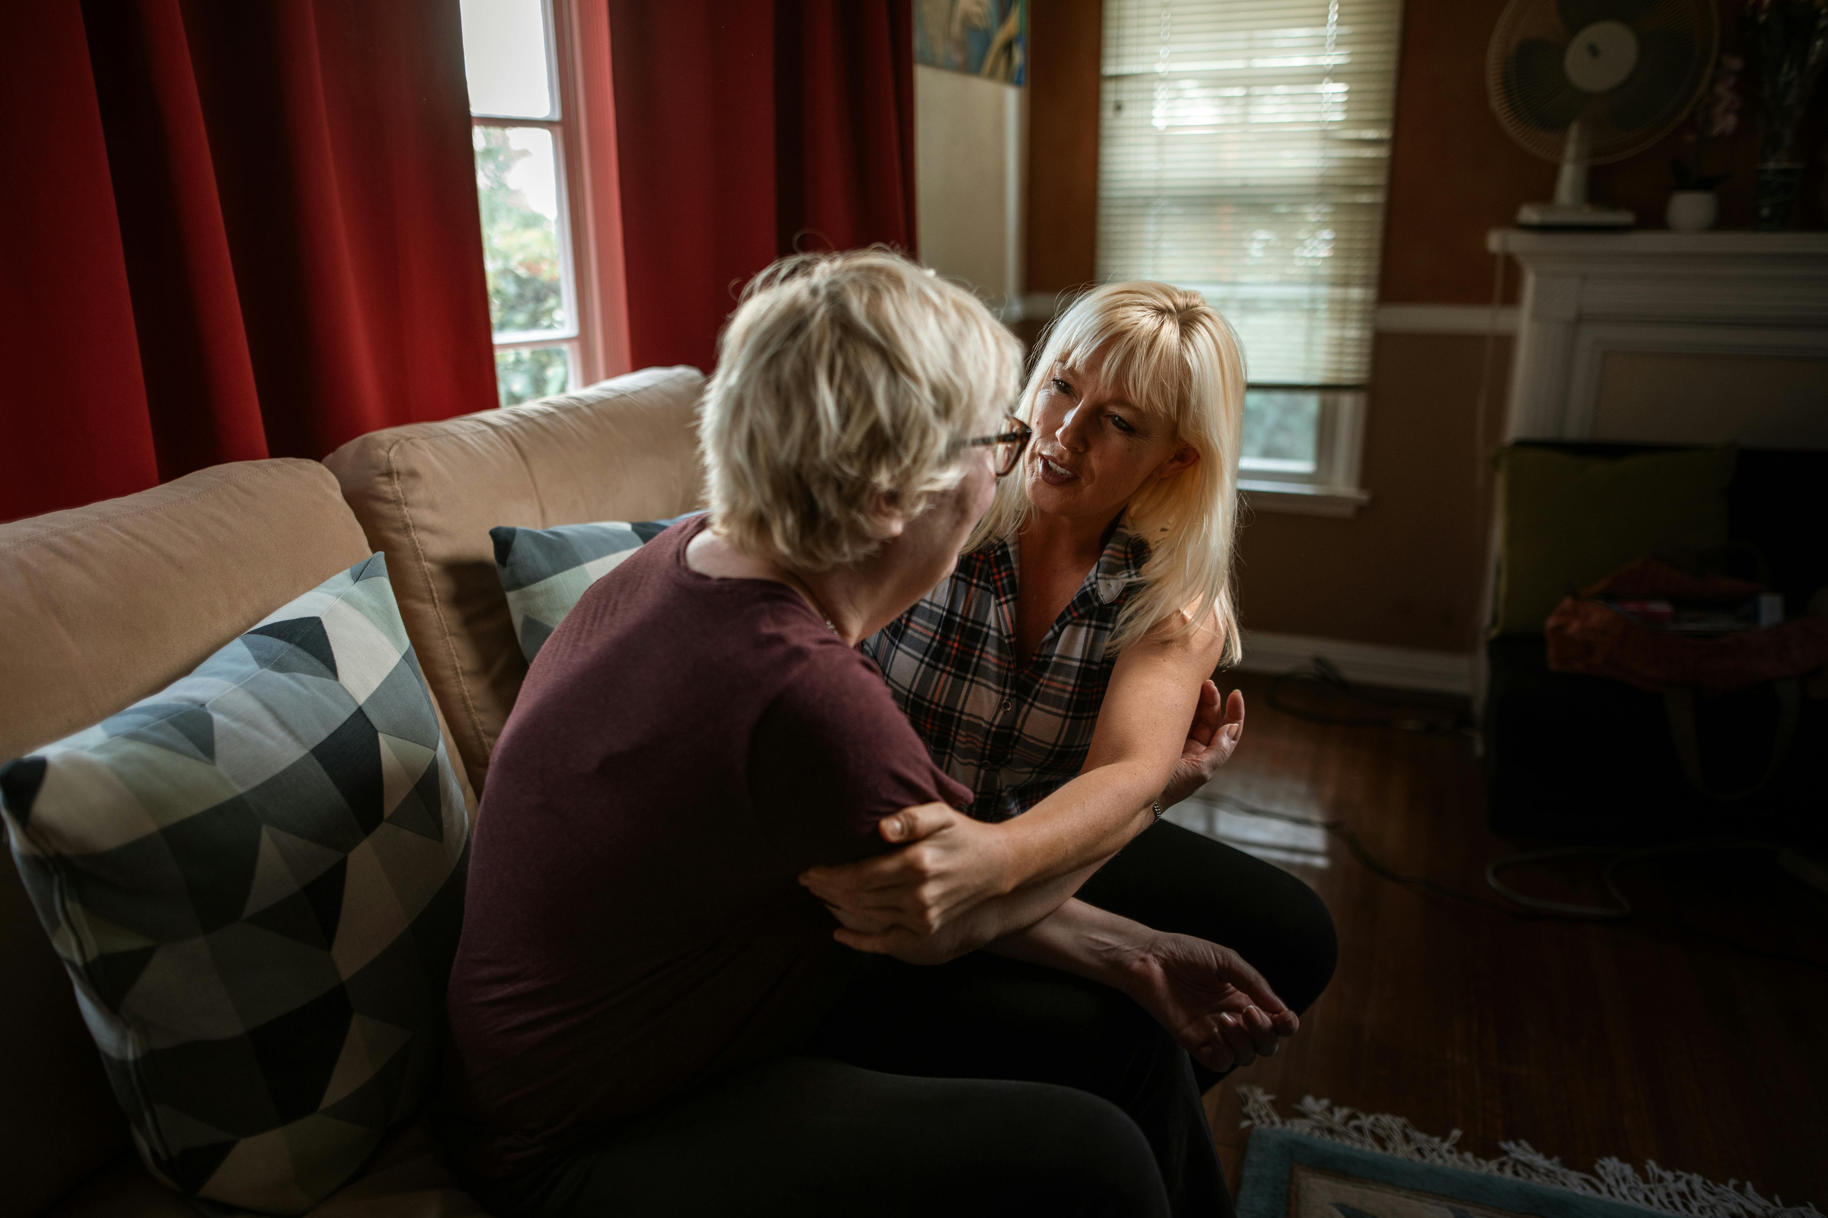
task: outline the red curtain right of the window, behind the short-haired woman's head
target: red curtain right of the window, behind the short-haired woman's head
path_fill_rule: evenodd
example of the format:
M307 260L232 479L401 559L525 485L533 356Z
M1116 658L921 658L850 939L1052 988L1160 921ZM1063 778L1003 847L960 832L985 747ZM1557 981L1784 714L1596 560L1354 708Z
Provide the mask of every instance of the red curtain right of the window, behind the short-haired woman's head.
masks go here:
M912 0L609 0L634 367L777 256L914 250Z

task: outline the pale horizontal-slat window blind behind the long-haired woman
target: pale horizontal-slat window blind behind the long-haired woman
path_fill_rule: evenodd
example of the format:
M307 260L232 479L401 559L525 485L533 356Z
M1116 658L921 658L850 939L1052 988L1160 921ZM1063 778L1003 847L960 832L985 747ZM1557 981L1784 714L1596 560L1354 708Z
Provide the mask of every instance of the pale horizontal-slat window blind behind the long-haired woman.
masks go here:
M1099 278L1205 294L1254 385L1362 385L1402 0L1104 0Z

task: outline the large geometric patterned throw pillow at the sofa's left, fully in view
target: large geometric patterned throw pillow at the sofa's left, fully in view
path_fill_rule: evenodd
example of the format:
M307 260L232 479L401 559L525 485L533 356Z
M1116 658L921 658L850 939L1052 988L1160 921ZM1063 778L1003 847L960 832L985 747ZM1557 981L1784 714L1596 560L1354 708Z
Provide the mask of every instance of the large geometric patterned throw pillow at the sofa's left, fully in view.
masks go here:
M470 827L382 555L0 767L0 803L165 1183L298 1214L420 1105Z

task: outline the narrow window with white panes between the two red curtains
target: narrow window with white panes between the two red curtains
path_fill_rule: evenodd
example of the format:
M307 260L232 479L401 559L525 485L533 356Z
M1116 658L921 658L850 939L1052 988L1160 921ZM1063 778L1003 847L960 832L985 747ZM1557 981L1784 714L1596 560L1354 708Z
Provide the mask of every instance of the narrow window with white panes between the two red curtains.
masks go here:
M614 343L618 318L603 316L614 298L600 290L609 276L590 223L590 99L578 89L592 73L576 58L590 44L607 64L607 24L585 27L598 16L592 5L572 13L567 0L461 0L461 9L495 391L501 405L514 405L625 363ZM618 270L620 261L609 267L611 276Z

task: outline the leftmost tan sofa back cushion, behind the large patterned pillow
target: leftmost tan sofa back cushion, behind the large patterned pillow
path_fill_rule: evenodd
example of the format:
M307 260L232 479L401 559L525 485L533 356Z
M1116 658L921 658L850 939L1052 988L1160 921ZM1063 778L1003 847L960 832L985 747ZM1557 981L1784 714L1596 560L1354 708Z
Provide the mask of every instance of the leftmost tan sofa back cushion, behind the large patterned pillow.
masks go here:
M369 553L314 460L214 466L0 524L0 760L190 672ZM38 1213L128 1145L62 964L0 866L0 1211Z

